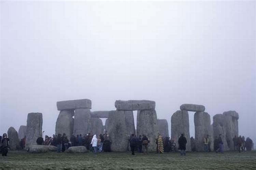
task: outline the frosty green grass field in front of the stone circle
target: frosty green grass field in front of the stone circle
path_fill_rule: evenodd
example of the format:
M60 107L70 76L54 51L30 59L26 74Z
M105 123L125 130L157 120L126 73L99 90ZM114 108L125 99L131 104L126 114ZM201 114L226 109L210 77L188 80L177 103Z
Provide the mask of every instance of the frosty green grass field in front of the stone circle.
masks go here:
M256 151L221 153L56 153L9 151L0 157L0 169L256 169Z

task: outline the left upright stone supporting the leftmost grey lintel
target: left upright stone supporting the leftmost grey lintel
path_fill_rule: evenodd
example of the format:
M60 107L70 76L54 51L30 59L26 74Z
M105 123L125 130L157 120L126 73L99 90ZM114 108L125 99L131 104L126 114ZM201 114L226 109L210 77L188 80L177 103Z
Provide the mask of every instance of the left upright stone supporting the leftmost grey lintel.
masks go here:
M65 133L68 139L70 139L74 129L73 115L74 111L72 110L60 111L55 125L55 135Z

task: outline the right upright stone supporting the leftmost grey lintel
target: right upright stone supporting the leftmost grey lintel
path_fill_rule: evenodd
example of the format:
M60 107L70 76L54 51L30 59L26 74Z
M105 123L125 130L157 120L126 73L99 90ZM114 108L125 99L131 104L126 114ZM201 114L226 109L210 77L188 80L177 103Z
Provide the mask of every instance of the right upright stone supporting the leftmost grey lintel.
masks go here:
M91 131L91 114L88 108L75 109L74 116L74 135L85 136Z

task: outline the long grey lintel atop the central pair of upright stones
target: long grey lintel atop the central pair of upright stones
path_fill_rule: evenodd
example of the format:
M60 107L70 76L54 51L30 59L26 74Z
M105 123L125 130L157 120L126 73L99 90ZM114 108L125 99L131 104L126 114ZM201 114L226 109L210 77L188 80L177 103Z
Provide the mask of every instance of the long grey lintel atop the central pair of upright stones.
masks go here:
M150 100L116 100L115 107L117 110L138 111L143 109L154 109L156 103Z

